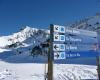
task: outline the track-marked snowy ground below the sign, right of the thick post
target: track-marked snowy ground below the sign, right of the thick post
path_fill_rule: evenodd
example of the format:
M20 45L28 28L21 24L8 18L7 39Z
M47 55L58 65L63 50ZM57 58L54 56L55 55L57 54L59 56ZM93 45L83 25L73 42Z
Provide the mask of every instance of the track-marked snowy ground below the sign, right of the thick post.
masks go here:
M97 79L96 66L77 64L56 64L54 80Z

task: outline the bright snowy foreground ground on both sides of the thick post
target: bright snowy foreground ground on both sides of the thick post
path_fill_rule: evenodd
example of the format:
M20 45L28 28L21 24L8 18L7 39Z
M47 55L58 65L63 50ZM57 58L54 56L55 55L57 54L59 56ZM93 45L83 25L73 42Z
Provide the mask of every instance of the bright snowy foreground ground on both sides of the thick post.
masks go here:
M45 64L0 61L0 80L44 80L44 68ZM89 65L54 64L54 80L97 79L96 68Z

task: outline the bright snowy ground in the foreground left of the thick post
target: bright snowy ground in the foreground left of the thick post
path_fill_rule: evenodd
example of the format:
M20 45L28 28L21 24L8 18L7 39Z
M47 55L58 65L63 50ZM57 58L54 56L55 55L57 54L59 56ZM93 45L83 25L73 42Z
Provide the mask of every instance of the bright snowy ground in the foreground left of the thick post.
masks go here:
M4 70L0 72L0 80L2 80L2 78L3 80L43 80L43 68L43 64L9 64L0 62L0 70ZM11 75L8 76L4 74L5 69L7 69Z

